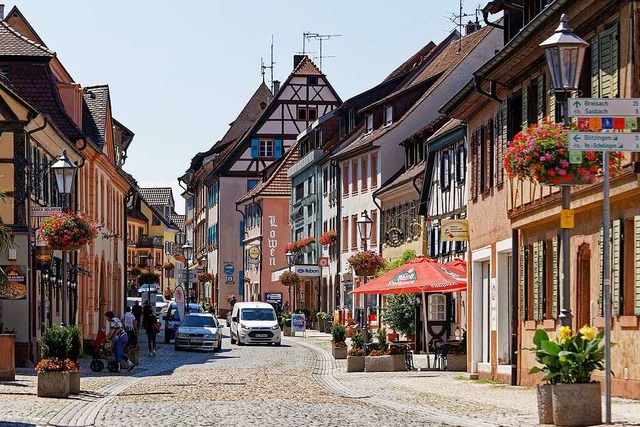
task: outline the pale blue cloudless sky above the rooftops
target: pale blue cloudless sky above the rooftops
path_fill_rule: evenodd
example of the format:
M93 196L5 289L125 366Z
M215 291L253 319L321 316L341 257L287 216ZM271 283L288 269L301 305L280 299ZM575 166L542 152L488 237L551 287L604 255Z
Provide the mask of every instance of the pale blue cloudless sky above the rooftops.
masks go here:
M486 2L485 2L486 3ZM379 83L455 29L458 0L28 0L15 3L82 86L108 84L116 119L135 134L125 170L141 187L171 186L226 132L262 81L274 41L284 81L303 33L323 41L322 69L343 100ZM484 5L484 3L482 3ZM5 13L14 6L7 3ZM463 2L474 15L480 3ZM481 18L481 17L480 17ZM463 23L474 16L463 18ZM339 36L338 36L339 35ZM306 41L319 65L319 43ZM265 75L269 84L270 74Z

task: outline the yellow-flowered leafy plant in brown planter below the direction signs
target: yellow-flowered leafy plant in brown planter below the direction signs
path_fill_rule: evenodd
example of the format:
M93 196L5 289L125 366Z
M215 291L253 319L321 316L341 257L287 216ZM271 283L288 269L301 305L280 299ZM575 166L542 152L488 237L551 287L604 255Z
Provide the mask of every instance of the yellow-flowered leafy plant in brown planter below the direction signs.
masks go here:
M534 366L529 373L544 373L542 379L550 384L554 424L602 423L600 383L591 381L591 374L596 369L604 369L603 337L604 331L596 334L588 325L577 333L569 326L562 326L555 339L550 339L542 329L535 332L535 347L531 351L542 367ZM539 405L545 405L548 412L548 399L541 402L540 394Z

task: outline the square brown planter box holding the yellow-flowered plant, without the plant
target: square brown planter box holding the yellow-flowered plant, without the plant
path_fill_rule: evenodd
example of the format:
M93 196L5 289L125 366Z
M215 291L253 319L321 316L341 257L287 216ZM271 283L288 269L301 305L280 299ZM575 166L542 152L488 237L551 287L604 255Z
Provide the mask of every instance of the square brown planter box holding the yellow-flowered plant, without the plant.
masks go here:
M553 423L557 426L602 424L600 383L553 384Z

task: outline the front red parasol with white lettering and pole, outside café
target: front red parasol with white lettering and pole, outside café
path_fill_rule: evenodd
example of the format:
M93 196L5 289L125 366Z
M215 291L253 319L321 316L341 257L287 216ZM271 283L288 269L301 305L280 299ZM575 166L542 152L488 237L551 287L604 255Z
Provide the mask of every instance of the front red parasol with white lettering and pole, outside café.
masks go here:
M422 295L422 317L424 318L424 336L427 332L427 292L459 292L467 290L466 268L463 271L457 265L441 264L436 260L424 256L407 261L400 267L376 277L370 282L351 291L352 294L410 294ZM427 367L431 367L429 360L429 346L427 348Z

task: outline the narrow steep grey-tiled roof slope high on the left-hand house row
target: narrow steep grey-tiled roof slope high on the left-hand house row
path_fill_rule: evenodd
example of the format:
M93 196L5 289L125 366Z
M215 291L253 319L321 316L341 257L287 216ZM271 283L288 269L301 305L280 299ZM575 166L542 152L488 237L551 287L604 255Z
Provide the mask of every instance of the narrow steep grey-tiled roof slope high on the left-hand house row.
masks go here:
M88 86L84 88L82 103L82 128L94 144L103 150L109 109L109 86Z

